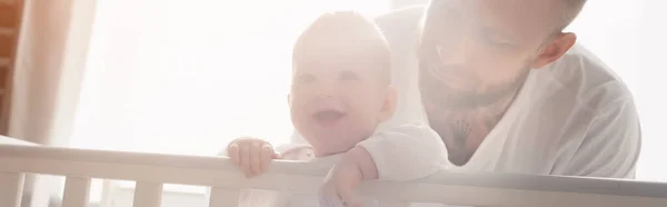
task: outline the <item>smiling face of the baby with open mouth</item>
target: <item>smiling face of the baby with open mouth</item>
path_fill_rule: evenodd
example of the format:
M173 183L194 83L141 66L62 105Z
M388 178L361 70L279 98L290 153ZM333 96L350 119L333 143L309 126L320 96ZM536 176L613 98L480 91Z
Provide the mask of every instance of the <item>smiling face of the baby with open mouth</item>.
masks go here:
M295 63L291 120L317 156L347 151L391 116L396 91L377 66L354 59Z

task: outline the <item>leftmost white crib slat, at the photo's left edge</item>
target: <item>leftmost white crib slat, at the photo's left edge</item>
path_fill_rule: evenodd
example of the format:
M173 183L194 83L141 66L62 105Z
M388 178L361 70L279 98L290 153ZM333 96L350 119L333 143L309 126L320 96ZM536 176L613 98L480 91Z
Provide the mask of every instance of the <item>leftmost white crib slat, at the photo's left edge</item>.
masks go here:
M0 172L0 206L20 207L23 193L23 174Z

